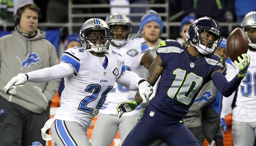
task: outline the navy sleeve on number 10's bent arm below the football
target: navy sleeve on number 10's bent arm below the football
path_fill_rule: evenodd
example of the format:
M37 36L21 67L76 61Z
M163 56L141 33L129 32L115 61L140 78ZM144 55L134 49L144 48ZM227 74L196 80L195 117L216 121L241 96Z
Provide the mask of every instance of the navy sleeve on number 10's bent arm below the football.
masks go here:
M239 79L236 75L231 81L228 82L222 73L217 72L213 74L212 81L221 95L228 97L236 91L242 79Z

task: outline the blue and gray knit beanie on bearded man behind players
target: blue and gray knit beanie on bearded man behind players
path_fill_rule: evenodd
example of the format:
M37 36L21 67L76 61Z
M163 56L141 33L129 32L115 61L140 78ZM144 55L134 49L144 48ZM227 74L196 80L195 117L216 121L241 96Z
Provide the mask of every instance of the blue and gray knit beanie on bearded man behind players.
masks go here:
M154 10L149 10L148 13L146 13L140 21L140 33L143 29L143 27L150 21L155 21L156 23L159 24L160 26L160 35L163 33L163 28L164 28L164 22L161 19L160 16L158 16L158 13Z

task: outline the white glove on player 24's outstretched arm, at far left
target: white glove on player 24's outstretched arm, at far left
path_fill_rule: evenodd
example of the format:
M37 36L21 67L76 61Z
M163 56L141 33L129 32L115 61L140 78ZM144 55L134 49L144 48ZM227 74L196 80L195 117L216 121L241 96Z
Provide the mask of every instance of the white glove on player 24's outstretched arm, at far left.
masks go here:
M13 86L19 86L25 84L25 82L28 80L27 76L24 73L19 73L16 77L13 77L11 81L9 81L4 89L8 90L12 85Z

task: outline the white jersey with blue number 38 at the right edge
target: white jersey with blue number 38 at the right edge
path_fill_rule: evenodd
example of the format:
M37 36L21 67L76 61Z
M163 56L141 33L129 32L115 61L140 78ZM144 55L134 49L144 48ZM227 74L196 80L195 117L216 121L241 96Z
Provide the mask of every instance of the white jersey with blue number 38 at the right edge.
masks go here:
M248 55L251 57L250 66L247 70L247 74L242 80L240 86L238 87L237 97L236 97L236 107L232 111L232 119L240 122L256 122L256 53L248 50ZM236 67L234 73L230 76L234 77L237 75L239 68ZM227 68L228 70L228 68ZM228 75L228 74L227 74ZM223 98L221 118L223 115L227 115L227 109L230 108L234 94L228 98ZM226 112L226 113L224 113Z

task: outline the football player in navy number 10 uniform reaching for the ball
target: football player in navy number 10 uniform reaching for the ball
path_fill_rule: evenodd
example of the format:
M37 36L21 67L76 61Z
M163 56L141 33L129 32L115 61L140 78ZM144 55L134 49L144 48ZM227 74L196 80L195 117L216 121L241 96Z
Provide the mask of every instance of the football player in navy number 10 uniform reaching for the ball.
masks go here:
M148 82L154 86L161 75L156 96L149 102L124 140L123 146L145 146L160 139L168 146L199 146L196 138L183 124L198 92L212 80L220 93L228 97L241 83L250 64L250 56L238 57L239 73L231 81L222 74L222 58L214 55L222 35L219 23L210 18L196 19L189 27L189 47L175 40L165 40L159 45L155 61L149 69ZM119 117L132 111L142 102L137 92L133 101L117 105Z

